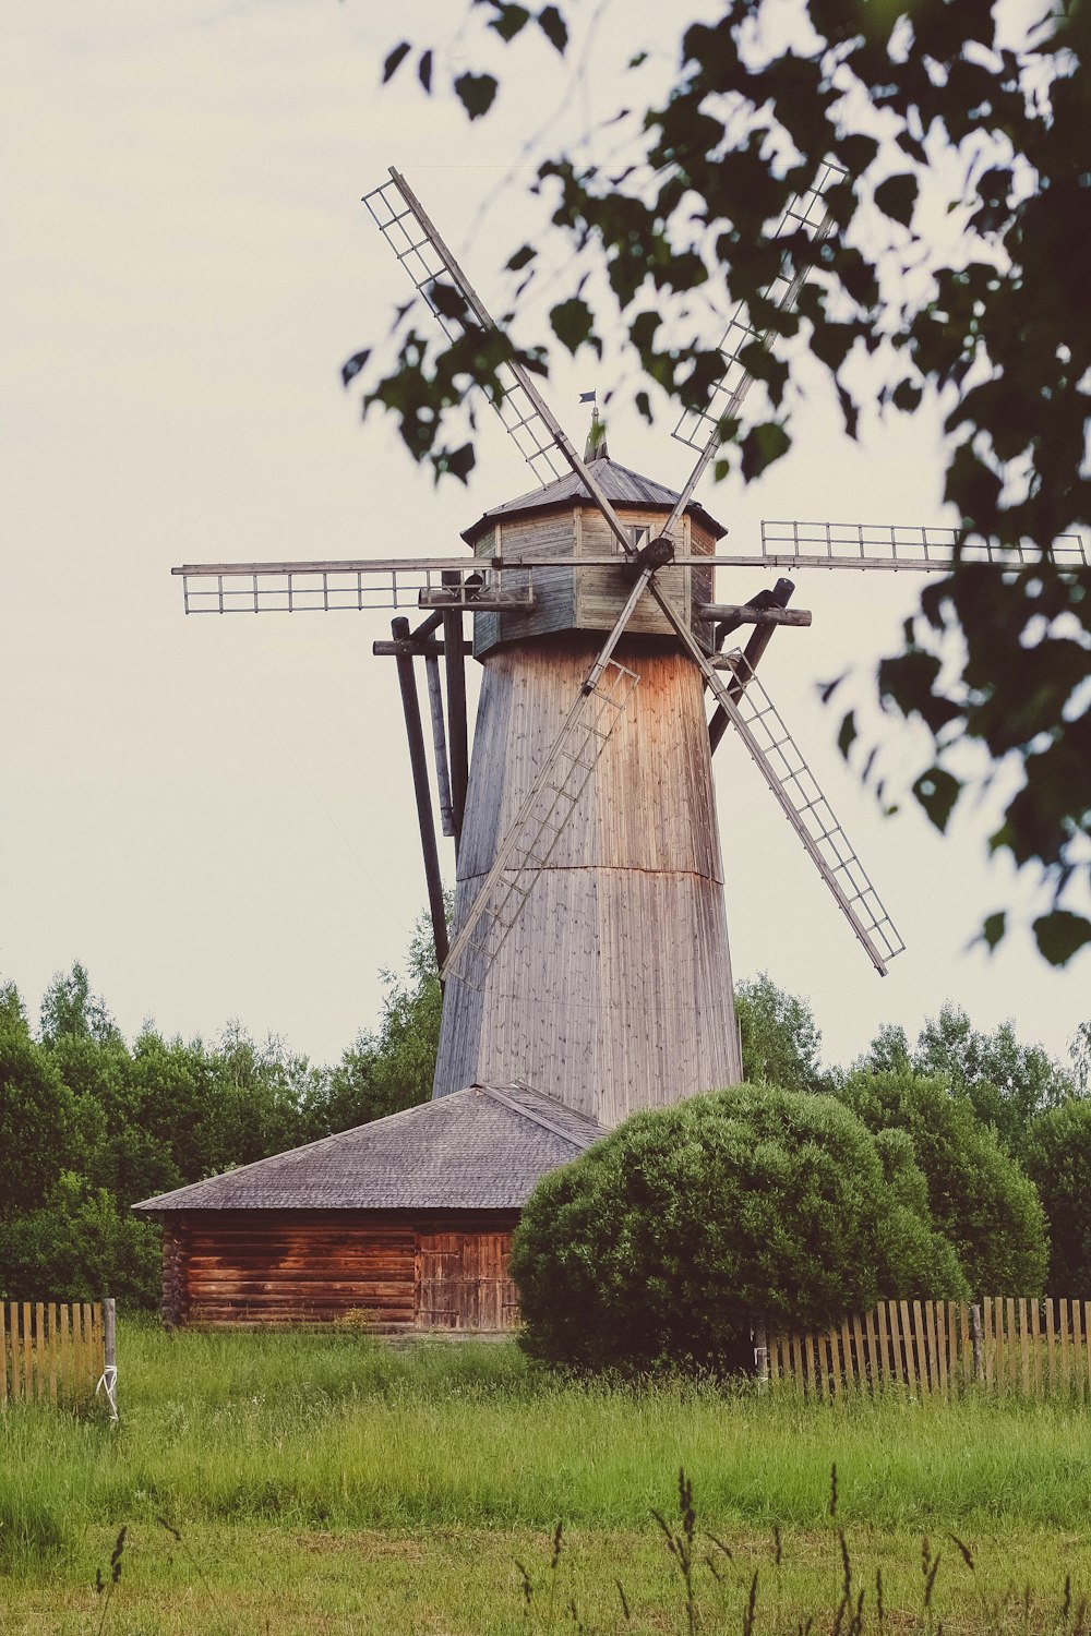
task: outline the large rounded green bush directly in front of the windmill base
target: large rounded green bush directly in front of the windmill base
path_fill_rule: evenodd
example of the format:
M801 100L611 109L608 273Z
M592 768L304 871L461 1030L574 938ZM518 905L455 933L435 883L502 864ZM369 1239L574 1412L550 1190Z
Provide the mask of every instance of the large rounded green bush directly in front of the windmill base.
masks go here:
M965 1292L913 1155L833 1098L738 1085L641 1112L533 1191L522 1343L574 1368L744 1368L751 1324ZM893 1181L888 1181L888 1175Z

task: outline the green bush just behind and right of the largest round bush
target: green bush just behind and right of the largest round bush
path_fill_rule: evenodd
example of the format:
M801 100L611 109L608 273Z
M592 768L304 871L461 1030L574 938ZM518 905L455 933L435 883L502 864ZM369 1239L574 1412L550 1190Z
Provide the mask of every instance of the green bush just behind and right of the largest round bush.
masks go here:
M981 1294L1044 1289L1048 1243L1034 1183L980 1124L967 1096L913 1072L857 1070L836 1093L869 1130L905 1130L939 1232Z

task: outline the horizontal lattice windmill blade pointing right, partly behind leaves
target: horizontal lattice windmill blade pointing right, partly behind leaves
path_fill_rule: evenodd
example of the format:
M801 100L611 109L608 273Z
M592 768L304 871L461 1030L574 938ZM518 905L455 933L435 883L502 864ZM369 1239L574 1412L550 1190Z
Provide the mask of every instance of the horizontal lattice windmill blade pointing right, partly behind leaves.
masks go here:
M1045 553L1037 545L999 546L988 540L960 546L962 528L867 522L762 522L762 558L770 568L887 568L947 573L955 560L994 568L1089 568L1078 533L1062 533Z

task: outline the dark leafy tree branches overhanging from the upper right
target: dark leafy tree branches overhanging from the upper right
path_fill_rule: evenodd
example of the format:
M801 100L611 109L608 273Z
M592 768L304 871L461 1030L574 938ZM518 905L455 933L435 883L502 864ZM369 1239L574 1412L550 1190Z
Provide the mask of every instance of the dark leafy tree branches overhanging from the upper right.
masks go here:
M913 414L924 398L942 411L945 497L967 540L1047 548L1086 527L1091 7L1039 0L1021 29L993 0L801 0L797 26L782 20L777 0L721 0L710 21L682 26L666 95L641 80L654 67L648 52L631 56L628 111L602 110L607 165L581 157L590 144L535 154L535 191L569 250L550 311L554 342L607 358L622 381L615 401L649 420L664 396L703 406L721 360L702 298L726 283L769 345L744 350L762 389L723 425L718 474L749 479L783 455L819 370L852 437L872 412ZM422 93L450 88L479 119L502 87L499 70L466 65L473 52L496 56L499 41L520 51L543 34L563 57L558 5L481 0L450 52L401 41L383 79L415 56ZM780 311L762 294L783 249L770 247L767 224L826 157L846 172L826 195L837 234L824 245L795 236L793 263L811 276L795 311ZM932 224L952 216L960 234L937 234ZM538 260L532 244L510 255L512 301ZM437 299L460 316L455 291ZM465 479L468 388L499 396L497 368L515 348L479 329L445 340L415 326L411 304L394 326L393 368L383 375L379 353L361 352L345 380L365 370L365 412L391 411L417 460ZM515 355L548 373L545 339ZM1058 965L1091 939L1080 906L1091 879L1080 843L1091 823L1089 643L1080 574L1044 568L1034 550L1006 574L960 555L924 589L903 649L877 677L883 707L924 730L931 756L913 795L941 829L1001 764L1017 774L991 847L1039 870L1048 906L1034 933ZM905 757L890 757L885 777L865 743L873 733L857 738L851 712L846 754L854 738L888 803ZM999 910L983 937L993 946L1004 929Z

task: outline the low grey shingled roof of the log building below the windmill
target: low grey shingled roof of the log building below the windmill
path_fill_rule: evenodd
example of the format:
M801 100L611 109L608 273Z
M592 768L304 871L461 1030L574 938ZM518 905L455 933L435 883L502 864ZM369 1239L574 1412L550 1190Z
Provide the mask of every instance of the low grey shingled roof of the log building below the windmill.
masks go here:
M537 1181L605 1135L525 1085L473 1085L132 1209L520 1209Z

